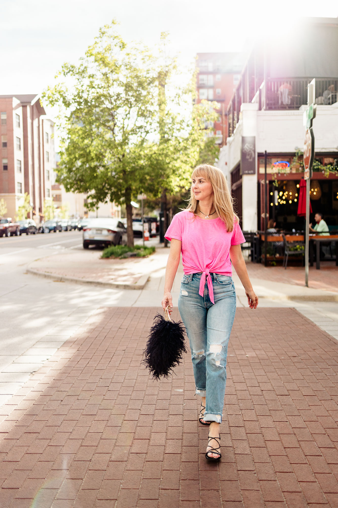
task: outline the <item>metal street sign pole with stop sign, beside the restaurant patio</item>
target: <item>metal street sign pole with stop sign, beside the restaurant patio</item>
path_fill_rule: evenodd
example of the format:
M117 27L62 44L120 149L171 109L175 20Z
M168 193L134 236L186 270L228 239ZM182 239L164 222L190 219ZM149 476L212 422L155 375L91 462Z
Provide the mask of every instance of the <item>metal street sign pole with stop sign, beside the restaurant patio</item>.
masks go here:
M315 157L315 137L312 131L312 121L316 116L315 79L308 84L308 109L304 112L306 126L304 141L304 179L306 180L306 214L305 214L305 285L309 287L309 226L310 226L310 178Z

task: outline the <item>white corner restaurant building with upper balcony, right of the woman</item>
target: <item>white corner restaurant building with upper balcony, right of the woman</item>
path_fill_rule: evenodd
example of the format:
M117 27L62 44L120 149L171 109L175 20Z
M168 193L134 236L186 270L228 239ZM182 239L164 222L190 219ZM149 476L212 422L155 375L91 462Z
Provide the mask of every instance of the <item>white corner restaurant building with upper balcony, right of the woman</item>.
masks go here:
M304 18L297 31L284 34L283 44L262 39L252 48L227 106L227 141L215 162L227 177L245 231L264 229L265 204L278 228L304 228L297 215L302 157L295 157L303 149L303 113L313 78L311 220L322 212L329 227L338 226L337 47L338 18Z

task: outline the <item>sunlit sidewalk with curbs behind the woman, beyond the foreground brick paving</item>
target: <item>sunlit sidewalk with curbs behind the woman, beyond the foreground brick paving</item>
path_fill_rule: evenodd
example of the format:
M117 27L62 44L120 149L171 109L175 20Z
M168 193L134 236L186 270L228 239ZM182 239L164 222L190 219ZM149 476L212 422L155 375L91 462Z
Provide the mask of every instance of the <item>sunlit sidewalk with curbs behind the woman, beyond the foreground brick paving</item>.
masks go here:
M100 250L70 249L32 262L27 271L53 280L144 290L147 289L149 277L158 278L158 274L164 273L169 253L169 249L159 245L157 239L148 243L156 245L156 252L149 258L100 259ZM302 267L289 267L284 270L282 267L264 267L248 262L247 268L252 285L260 298L338 302L338 268L333 265L324 267L321 271L312 267L309 288L304 285L305 272ZM176 279L181 280L182 274L183 267L180 263ZM235 272L233 278L236 282L236 293L239 297L245 296Z

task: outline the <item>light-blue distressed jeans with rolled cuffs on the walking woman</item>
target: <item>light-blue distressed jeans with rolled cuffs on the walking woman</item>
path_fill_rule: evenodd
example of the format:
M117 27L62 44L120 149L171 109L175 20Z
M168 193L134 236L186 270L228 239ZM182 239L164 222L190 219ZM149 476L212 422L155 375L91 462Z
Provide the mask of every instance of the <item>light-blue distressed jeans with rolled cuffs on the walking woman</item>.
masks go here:
M207 281L200 296L201 273L184 275L178 308L187 331L194 371L196 394L206 397L203 419L221 423L226 384L226 355L236 311L232 278L211 273L214 301Z

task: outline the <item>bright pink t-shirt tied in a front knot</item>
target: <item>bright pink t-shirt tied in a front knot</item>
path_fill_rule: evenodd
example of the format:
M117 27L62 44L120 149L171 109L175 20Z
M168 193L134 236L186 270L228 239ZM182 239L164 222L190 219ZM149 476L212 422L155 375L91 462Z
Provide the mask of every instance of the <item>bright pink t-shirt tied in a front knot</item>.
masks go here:
M181 240L184 273L189 275L202 272L199 294L204 295L207 277L210 300L215 303L210 272L232 275L230 246L245 242L240 226L234 224L232 232L228 233L219 217L201 219L196 216L194 219L192 212L183 210L174 215L171 225L166 230L165 238Z

